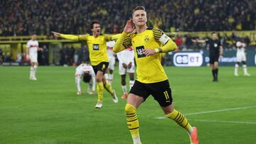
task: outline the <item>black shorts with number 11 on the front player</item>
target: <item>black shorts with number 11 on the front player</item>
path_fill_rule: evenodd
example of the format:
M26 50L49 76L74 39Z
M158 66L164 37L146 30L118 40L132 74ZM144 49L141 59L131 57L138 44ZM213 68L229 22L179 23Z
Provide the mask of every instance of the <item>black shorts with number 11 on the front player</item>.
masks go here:
M169 106L173 101L168 80L151 84L144 84L136 80L129 93L142 96L144 101L146 101L146 98L151 94L154 96L154 99L159 102L160 106L164 107Z

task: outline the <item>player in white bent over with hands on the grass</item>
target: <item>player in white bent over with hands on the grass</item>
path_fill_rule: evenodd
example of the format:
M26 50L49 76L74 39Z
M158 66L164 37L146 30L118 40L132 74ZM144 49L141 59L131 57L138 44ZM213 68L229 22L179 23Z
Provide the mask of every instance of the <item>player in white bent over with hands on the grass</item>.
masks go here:
M95 72L91 65L89 64L81 64L75 69L75 84L78 88L78 95L82 94L81 90L81 78L85 83L88 83L88 94L95 94Z

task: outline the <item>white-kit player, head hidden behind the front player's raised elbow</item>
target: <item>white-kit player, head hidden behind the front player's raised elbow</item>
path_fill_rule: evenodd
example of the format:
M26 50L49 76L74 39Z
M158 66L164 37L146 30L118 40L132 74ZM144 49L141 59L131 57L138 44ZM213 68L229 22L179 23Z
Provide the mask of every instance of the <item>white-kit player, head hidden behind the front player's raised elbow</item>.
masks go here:
M134 84L134 50L132 47L117 53L119 60L119 74L121 75L121 87L124 92L122 99L127 99L126 73L129 74L129 90Z

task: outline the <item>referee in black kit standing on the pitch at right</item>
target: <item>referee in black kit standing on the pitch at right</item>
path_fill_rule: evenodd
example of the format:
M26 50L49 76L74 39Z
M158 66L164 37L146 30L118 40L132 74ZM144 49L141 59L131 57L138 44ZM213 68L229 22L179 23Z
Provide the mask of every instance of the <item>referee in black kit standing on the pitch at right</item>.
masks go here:
M218 82L218 59L223 57L223 45L218 40L217 33L212 33L212 38L206 40L192 40L196 43L206 43L210 48L210 67L212 67L213 82Z

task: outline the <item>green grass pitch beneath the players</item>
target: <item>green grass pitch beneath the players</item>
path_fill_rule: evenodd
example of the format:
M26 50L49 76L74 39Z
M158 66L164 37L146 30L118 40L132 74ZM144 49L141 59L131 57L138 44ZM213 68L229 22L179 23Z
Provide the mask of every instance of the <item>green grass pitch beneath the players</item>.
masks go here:
M256 143L256 67L251 77L233 76L234 67L219 68L219 82L211 82L209 67L165 67L174 106L206 144ZM75 67L38 67L34 82L29 67L0 67L0 143L130 144L124 113L126 100L117 67L112 87L119 103L104 92L102 109L97 96L76 95ZM186 131L164 116L150 96L138 109L144 144L189 143Z

